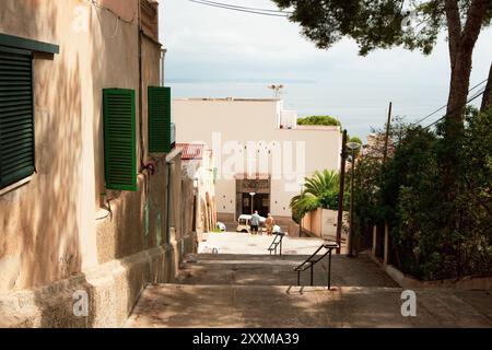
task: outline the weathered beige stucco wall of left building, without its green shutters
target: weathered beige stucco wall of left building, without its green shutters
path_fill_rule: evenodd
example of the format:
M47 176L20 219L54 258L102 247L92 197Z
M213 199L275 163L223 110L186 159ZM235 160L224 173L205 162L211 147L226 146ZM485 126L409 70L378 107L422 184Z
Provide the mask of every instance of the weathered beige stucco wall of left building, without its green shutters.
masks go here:
M155 164L155 174L139 174L134 192L105 190L102 90L136 90L137 120L139 115L138 0L98 3L130 23L84 0L0 5L1 33L60 47L58 55L34 59L37 173L0 195L0 326L120 325L144 284L171 281L195 247L192 184L181 177L179 154L153 159L145 151L143 161ZM147 86L159 84L160 55L142 37L145 149ZM92 299L89 318L70 315L77 288ZM110 307L117 314L105 318Z

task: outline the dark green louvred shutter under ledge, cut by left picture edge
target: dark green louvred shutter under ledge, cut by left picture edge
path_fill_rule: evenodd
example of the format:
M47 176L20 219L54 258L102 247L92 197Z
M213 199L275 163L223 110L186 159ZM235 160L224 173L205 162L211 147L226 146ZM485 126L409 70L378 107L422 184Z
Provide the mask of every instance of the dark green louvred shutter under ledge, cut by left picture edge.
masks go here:
M0 188L35 171L32 52L0 47Z

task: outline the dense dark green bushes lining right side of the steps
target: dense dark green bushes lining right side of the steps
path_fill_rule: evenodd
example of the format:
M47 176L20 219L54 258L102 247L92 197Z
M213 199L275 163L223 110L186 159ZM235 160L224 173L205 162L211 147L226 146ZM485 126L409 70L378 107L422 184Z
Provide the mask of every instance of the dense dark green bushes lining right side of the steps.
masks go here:
M393 253L403 272L423 280L492 275L492 109L467 109L449 200L443 154L450 142L401 122L391 129L391 152L382 145L355 168L354 221L364 232L390 225ZM378 152L379 151L379 152Z

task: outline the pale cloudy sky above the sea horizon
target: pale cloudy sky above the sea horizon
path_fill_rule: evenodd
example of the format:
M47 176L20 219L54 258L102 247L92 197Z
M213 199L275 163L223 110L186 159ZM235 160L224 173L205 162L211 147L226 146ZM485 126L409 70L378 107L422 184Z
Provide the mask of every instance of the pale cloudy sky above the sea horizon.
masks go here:
M277 9L269 0L221 1ZM345 108L351 103L362 107L364 102L373 106L377 100L378 116L394 101L396 113L398 106L405 106L405 113L417 118L447 100L449 59L444 34L430 56L393 48L360 57L350 39L342 39L328 50L317 49L301 35L297 24L284 18L210 8L188 0L161 0L160 35L167 49L165 74L171 82L277 82L286 89L293 83L314 82L320 89L328 86L344 94L337 94L335 101L327 98L326 105L316 102L313 110L323 109L326 114L342 110L340 104ZM491 59L492 30L487 28L473 52L470 85L487 78ZM203 92L198 93L207 97L210 85L202 86ZM295 91L303 94L302 90ZM295 103L296 98L304 104L307 101L306 96L291 95L293 107L302 105ZM413 105L420 109L412 109ZM355 114L348 114L351 122L356 122Z

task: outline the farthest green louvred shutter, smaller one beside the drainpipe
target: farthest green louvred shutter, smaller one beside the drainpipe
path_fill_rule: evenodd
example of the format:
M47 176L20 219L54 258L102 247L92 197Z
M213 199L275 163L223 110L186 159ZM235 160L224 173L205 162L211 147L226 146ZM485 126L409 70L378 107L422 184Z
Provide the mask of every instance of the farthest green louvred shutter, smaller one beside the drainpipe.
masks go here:
M171 88L149 86L149 152L171 152Z

